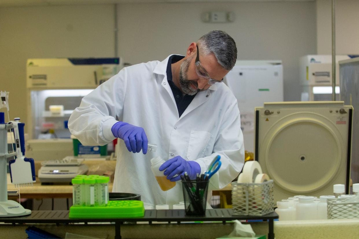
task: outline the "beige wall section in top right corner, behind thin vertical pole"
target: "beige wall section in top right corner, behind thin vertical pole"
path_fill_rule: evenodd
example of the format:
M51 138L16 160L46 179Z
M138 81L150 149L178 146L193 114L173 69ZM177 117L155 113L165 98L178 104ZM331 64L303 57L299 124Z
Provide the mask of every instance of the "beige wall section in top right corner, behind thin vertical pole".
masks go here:
M318 54L332 53L331 1L317 0ZM335 34L337 54L359 54L359 1L336 0Z

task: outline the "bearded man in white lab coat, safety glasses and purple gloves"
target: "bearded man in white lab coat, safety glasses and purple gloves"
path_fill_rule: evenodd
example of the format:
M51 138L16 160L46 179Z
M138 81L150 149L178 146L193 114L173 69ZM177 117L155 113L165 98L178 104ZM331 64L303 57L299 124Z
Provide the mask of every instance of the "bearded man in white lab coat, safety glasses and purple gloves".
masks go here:
M170 55L123 68L85 96L71 114L70 132L83 145L118 140L113 192L139 193L153 205L183 201L179 175L203 174L216 155L222 166L210 179L213 189L232 182L244 164L237 100L222 83L237 59L236 43L212 31L192 42L186 56ZM147 144L157 144L155 153ZM140 153L142 151L142 153ZM150 159L176 186L162 191Z

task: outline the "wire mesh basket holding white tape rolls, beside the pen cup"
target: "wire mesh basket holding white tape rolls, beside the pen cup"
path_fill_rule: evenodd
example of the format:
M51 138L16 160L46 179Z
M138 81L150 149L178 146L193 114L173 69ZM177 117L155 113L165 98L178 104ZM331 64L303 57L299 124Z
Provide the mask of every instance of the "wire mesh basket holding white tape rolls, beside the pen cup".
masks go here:
M232 183L232 208L237 216L264 216L274 212L273 180Z

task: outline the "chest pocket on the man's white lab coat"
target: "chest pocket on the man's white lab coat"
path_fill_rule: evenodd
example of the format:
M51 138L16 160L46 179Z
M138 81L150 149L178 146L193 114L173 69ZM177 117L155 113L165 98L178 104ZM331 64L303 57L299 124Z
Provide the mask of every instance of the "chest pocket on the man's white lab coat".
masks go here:
M196 160L202 158L210 138L210 132L191 130L190 140L188 141L187 159Z

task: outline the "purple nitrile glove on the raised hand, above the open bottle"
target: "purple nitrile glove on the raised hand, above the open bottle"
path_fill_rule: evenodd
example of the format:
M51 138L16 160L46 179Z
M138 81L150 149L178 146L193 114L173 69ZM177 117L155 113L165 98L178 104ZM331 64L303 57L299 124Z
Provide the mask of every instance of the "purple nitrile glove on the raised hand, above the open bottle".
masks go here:
M130 152L139 153L142 149L143 154L147 153L148 140L143 128L119 121L112 126L111 131L113 136L125 141Z

